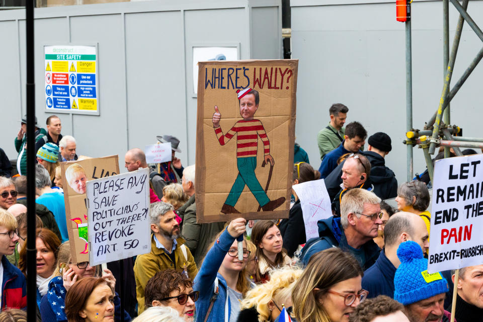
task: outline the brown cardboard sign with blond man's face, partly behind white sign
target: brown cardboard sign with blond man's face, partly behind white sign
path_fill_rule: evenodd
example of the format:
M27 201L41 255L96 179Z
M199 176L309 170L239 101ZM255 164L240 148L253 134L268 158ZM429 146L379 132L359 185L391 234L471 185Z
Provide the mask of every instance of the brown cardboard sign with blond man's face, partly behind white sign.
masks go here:
M72 263L89 262L86 182L119 174L117 155L62 162L65 217Z

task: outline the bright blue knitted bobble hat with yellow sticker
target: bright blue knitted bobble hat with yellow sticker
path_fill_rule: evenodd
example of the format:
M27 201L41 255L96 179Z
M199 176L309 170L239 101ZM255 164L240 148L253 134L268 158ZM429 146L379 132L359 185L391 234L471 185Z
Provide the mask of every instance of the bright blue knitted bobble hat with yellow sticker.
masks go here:
M399 303L409 305L449 290L441 273L428 273L428 260L418 243L401 243L397 257L401 264L394 275L394 299Z

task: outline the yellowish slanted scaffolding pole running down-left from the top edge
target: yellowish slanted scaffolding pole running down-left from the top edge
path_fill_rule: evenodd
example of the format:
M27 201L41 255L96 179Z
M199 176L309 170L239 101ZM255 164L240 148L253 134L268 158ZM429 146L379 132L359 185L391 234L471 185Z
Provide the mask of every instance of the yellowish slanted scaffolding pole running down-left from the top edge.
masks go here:
M453 3L453 0L451 0L451 2ZM468 7L468 0L463 0L464 11L466 11L467 7ZM434 154L434 151L436 149L435 141L438 138L438 134L439 134L441 116L443 113L443 105L449 93L449 84L451 83L451 76L453 75L453 67L454 67L454 62L456 60L456 54L458 53L459 40L461 38L461 31L463 30L463 23L464 23L464 18L463 18L463 15L460 13L458 18L458 24L456 25L456 32L453 39L453 46L451 48L451 55L449 56L446 76L444 78L443 91L441 93L441 98L439 100L438 112L436 114L436 119L434 121L433 135L431 136L431 139L430 139L429 150L428 150L429 154Z

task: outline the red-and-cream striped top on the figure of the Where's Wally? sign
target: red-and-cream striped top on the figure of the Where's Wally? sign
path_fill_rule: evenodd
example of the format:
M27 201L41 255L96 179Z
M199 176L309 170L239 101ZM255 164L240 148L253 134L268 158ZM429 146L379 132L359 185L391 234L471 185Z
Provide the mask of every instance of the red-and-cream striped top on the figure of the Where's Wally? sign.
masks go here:
M239 120L223 134L221 127L215 128L216 136L221 145L225 145L236 133L236 157L257 156L258 136L262 139L264 155L270 154L270 141L260 120Z

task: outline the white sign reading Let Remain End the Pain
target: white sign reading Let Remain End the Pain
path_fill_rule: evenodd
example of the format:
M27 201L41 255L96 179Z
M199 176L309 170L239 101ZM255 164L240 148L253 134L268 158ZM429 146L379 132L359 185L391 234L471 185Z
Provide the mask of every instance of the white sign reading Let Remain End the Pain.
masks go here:
M437 160L433 181L428 272L482 264L483 155Z

